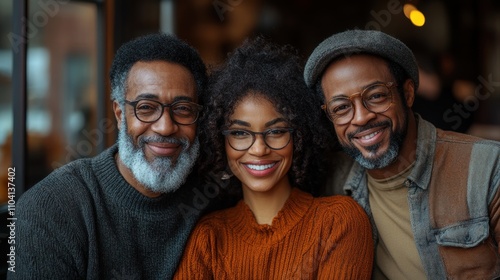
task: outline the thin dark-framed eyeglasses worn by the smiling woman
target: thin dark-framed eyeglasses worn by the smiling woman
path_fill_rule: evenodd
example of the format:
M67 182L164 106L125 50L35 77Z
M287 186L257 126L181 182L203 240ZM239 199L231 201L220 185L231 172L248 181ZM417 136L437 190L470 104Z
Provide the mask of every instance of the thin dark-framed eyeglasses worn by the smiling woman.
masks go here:
M222 131L231 148L237 151L245 151L252 147L255 142L255 135L260 134L264 138L264 143L273 150L281 150L291 139L293 128L272 128L263 132L253 132L244 129L228 129Z

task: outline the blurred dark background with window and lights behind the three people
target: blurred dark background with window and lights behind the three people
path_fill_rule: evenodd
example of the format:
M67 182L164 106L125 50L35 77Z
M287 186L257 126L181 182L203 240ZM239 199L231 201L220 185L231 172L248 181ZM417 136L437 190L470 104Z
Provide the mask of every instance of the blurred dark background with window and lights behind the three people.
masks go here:
M25 15L19 3L26 4ZM13 29L20 18L27 25L24 37ZM424 118L500 140L500 1L0 1L2 213L9 167L22 184L16 184L17 199L54 168L114 143L108 71L124 42L174 33L198 49L210 68L249 36L291 44L305 62L326 37L354 28L387 32L414 50L421 70L414 109ZM13 65L23 42L26 68L20 75ZM19 84L26 85L24 99L16 98Z

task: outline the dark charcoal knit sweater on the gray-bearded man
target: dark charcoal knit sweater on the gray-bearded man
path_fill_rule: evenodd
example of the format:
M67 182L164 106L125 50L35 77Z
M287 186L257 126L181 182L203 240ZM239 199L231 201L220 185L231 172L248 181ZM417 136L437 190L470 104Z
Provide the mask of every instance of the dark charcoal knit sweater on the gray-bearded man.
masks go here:
M73 161L21 196L9 279L172 278L202 207L195 183L148 198L118 171L117 151Z

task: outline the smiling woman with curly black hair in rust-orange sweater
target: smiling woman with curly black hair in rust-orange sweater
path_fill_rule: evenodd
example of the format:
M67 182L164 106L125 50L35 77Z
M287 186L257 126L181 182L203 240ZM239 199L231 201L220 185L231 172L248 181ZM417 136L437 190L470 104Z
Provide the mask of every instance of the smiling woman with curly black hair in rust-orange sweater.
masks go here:
M369 279L367 215L324 183L326 121L290 47L245 42L210 78L200 120L201 170L241 190L203 217L176 279Z

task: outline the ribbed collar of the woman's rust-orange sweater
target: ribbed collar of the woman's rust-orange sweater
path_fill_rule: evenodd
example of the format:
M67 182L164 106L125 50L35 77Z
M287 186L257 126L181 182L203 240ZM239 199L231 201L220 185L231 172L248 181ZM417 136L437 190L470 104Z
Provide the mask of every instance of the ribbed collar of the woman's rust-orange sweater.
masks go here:
M274 217L272 225L260 225L250 207L241 200L235 206L235 211L230 211L227 223L232 224L235 234L246 242L272 244L281 240L304 218L312 202L311 194L293 188L283 208Z

